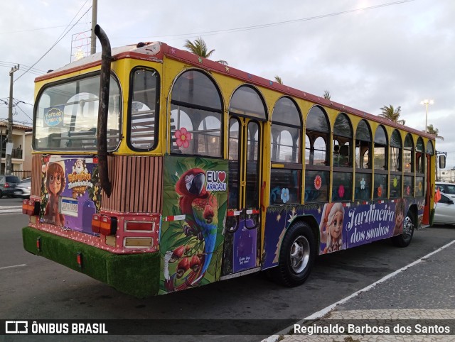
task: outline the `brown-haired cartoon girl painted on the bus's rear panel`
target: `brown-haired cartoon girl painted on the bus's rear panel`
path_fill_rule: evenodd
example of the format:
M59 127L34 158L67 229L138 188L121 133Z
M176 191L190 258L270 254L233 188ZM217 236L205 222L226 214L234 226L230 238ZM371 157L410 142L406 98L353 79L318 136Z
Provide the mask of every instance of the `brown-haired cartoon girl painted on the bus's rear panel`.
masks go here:
M65 189L65 165L60 162L50 162L45 172L45 187L48 190L49 201L45 206L44 221L48 224L64 226L65 215L58 212L58 197Z

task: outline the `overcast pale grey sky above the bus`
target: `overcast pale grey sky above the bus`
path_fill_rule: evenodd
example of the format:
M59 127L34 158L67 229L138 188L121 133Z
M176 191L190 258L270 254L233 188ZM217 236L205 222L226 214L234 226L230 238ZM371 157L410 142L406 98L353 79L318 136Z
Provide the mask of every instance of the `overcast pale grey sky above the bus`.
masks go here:
M18 63L14 99L25 104L14 107L14 121L31 123L33 79L70 62L73 35L90 36L84 32L91 5L1 1L1 119L8 116L9 70ZM437 150L448 152L454 167L454 15L454 0L99 0L97 22L112 47L161 40L183 48L186 39L201 36L215 49L214 60L267 79L279 75L311 94L328 90L333 101L370 114L401 106L401 118L419 130L425 125L420 101L434 99L428 123L444 137ZM23 74L32 65L33 73Z

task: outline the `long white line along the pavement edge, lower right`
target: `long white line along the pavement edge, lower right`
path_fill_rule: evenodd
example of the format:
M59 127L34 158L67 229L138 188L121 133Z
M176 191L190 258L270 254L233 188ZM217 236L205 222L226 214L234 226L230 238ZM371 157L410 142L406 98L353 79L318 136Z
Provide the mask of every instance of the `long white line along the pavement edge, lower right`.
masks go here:
M447 243L446 245L442 246L441 248L438 248L437 250L434 250L432 253L428 253L427 255L422 256L422 258L415 260L413 263L410 263L409 265L401 267L400 270L396 270L395 272L392 272L392 273L390 273L388 275L385 275L384 277L382 277L377 282L373 282L373 284L368 285L367 287L363 287L363 289L359 289L357 292L354 292L353 294L350 294L348 297L343 298L343 299L339 300L338 302L333 303L333 304L329 305L328 307L325 307L324 309L319 310L319 311L315 312L314 314L311 314L310 316L307 316L304 319L301 319L300 321L296 322L296 324L300 324L301 325L301 324L303 324L304 321L321 319L323 316L326 316L326 314L328 314L330 311L332 311L337 305L344 304L344 303L348 302L349 299L352 299L353 297L357 297L360 293L367 292L368 290L372 289L373 287L375 287L376 285L380 284L381 282L385 282L385 280L388 280L388 279L390 279L392 277L395 277L395 275L397 275L398 273L403 272L404 270L407 270L408 268L410 268L410 267L412 267L414 265L417 265L418 263L422 263L423 260L426 260L430 256L432 256L432 255L434 255L436 253L439 253L441 250L451 246L454 243L455 243L455 240ZM291 331L292 329L294 329L294 326L288 326L287 328L283 329L282 331L279 331L279 333L277 333L277 335L272 335L272 336L269 336L268 338L264 338L264 340L262 340L262 342L276 342L276 341L279 341L279 337L280 336L289 334L289 331Z

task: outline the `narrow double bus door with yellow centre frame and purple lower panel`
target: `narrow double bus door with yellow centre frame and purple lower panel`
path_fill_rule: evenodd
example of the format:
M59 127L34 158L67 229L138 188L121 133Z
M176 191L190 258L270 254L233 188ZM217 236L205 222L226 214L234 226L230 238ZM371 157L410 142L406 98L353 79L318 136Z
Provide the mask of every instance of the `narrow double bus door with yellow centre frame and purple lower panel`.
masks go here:
M229 122L228 217L223 275L259 266L262 123L240 116Z

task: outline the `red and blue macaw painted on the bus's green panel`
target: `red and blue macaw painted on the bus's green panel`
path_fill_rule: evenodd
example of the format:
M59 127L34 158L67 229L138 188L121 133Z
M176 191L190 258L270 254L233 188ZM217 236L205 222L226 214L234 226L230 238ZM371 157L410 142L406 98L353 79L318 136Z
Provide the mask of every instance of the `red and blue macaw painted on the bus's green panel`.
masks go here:
M197 285L204 277L213 251L218 231L218 202L216 197L205 189L205 171L200 168L192 168L181 175L176 182L176 192L180 196L178 208L181 214L185 214L183 233L191 236L203 244L203 253L185 258L189 252L189 246L180 246L168 252L168 262L174 263L180 260L176 273L169 275L166 288L170 291L185 289ZM175 287L176 278L181 278L190 270L184 278L184 282Z

